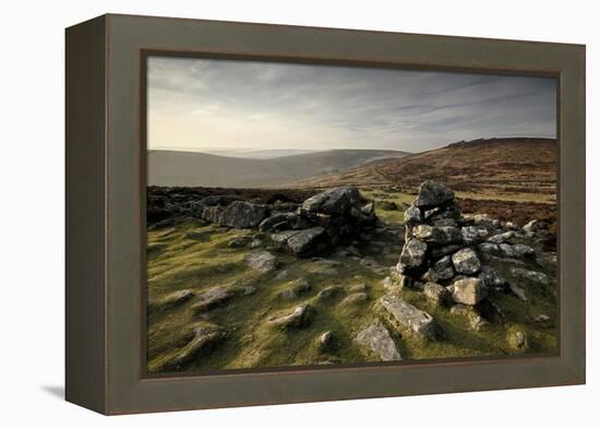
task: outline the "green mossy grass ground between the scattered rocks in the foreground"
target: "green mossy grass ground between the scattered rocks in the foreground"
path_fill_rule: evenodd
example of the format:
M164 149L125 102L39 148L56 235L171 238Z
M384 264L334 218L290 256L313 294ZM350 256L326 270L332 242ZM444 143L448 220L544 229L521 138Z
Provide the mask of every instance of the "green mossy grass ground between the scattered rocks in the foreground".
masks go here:
M377 195L373 193L376 192L364 194L376 199ZM387 195L387 199L395 201L398 210L377 210L377 215L387 223L401 223L403 211L413 195L394 193ZM165 362L173 358L190 342L192 330L199 324L221 326L227 335L212 349L202 350L180 370L377 360L369 350L359 348L352 338L377 318L375 301L385 293L382 283L385 273L373 272L352 257L324 255L324 261L298 259L274 248L264 236L259 249L228 246L233 238L244 236L254 237L256 231L229 229L201 221L184 221L172 227L148 231L147 364L151 372L160 370ZM360 248L360 251L363 257L371 257L387 267L397 262L401 242L392 236L383 239L389 243L387 253L382 252L381 247L369 246ZM261 249L278 258L277 270L261 274L244 264L244 257L249 252ZM511 277L508 266L495 267L508 281L516 281ZM295 299L283 299L280 293L301 277L310 282L311 289ZM344 298L352 293L352 286L361 284L367 286L364 291L369 299L341 305ZM215 286L233 289L236 295L230 301L206 313L193 311L194 298L176 306L161 303L173 291L201 294ZM252 288L248 289L249 286ZM339 286L339 290L328 298L320 298L319 291L331 286ZM533 322L533 318L540 313L549 315L551 321L557 321L556 298L552 289L524 282L519 282L519 286L525 289L529 302L523 302L508 294L494 295L493 300L505 313L505 320L493 321L480 332L470 327L467 315L452 314L447 308L437 307L418 291L401 290L404 299L431 313L444 332L440 341L424 342L391 330L403 358L523 353L515 350L507 341L507 334L514 331L527 334L529 353L555 351L555 324L540 325ZM302 303L310 303L312 308L313 319L308 326L286 329L269 323L269 320L288 314ZM333 333L335 346L324 351L317 345L317 337L326 331Z

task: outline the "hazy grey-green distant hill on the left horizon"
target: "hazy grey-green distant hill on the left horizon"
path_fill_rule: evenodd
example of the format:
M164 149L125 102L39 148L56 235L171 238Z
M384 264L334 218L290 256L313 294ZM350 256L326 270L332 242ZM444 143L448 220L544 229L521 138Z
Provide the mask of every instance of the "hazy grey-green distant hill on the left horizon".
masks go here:
M148 184L273 188L406 154L387 150L332 150L256 159L197 152L149 151Z

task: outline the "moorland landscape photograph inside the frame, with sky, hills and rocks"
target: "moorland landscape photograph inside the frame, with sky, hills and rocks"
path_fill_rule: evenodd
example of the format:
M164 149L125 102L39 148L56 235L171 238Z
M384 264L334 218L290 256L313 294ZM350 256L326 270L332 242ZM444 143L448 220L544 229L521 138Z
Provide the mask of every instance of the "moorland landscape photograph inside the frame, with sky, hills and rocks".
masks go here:
M146 73L148 373L559 353L554 78Z

